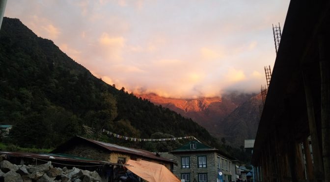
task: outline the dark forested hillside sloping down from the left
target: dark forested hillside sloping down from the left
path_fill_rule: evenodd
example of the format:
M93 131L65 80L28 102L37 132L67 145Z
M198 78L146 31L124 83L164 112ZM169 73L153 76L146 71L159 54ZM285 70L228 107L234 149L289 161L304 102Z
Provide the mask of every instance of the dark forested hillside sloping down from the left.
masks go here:
M186 142L127 142L98 134L107 129L140 138L194 136L224 148L191 119L106 84L52 41L9 18L0 30L0 123L14 125L3 141L21 147L54 148L76 135L154 151ZM96 135L84 133L83 124Z

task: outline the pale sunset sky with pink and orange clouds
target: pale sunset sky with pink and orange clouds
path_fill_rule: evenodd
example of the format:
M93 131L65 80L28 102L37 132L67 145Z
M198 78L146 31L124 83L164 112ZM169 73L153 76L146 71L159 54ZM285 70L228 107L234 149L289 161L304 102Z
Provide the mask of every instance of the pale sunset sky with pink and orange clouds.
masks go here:
M18 18L116 88L172 98L260 92L289 0L8 0ZM285 27L284 27L285 28Z

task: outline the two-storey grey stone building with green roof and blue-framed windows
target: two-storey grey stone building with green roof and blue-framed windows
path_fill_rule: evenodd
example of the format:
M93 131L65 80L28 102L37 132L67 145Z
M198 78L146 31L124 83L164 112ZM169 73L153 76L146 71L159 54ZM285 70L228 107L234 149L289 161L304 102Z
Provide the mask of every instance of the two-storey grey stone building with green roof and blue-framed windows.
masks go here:
M237 160L216 148L198 141L190 141L170 153L177 162L173 167L173 173L186 182L236 181Z

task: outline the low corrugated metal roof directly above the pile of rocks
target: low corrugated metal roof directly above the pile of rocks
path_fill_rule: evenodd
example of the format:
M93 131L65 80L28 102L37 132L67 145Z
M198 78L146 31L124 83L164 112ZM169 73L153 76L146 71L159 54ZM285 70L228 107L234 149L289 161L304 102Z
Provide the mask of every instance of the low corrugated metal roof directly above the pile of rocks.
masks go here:
M71 156L66 154L39 154L39 153L27 153L27 152L3 152L7 157L18 157L18 158L30 158L30 159L44 159L44 160L62 160L62 161L72 161L72 162L83 162L92 164L110 164L110 165L123 165L117 163L110 163L102 160L80 158L77 156Z

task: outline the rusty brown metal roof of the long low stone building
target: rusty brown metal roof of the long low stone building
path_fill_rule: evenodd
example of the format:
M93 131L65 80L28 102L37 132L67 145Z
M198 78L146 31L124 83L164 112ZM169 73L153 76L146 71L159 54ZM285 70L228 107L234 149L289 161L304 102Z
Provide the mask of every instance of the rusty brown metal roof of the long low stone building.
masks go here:
M65 149L68 146L73 146L73 145L77 144L77 142L76 142L77 140L80 140L81 142L87 141L89 143L102 147L103 149L105 149L109 152L120 152L120 153L131 154L131 155L135 155L135 156L139 156L139 157L144 157L144 158L148 158L148 159L155 159L158 161L173 162L170 159L158 157L158 156L156 156L156 154L146 151L146 150L124 147L124 146L120 146L120 145L116 145L116 144L112 144L112 143L106 143L103 141L97 141L97 140L88 139L88 138L79 137L79 136L73 137L70 140L66 141L64 144L58 146L54 151L52 151L52 153L60 153L62 151L65 151Z

